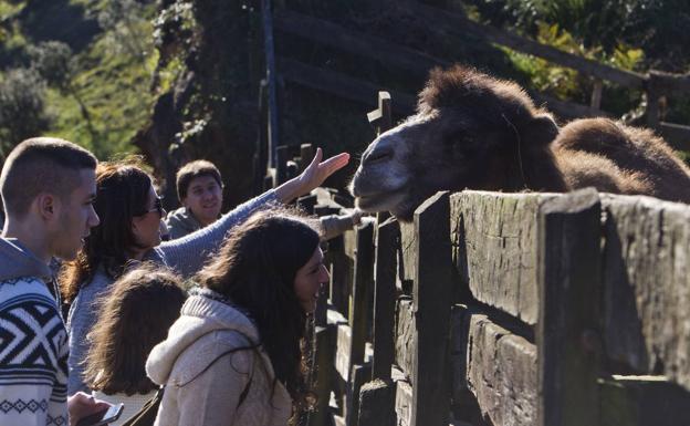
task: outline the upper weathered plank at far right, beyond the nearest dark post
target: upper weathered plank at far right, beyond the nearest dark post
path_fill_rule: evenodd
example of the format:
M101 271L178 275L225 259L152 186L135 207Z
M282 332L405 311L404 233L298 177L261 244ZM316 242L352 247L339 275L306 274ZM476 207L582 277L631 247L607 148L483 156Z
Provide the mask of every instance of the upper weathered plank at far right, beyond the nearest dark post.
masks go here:
M608 356L690 389L690 207L604 196Z

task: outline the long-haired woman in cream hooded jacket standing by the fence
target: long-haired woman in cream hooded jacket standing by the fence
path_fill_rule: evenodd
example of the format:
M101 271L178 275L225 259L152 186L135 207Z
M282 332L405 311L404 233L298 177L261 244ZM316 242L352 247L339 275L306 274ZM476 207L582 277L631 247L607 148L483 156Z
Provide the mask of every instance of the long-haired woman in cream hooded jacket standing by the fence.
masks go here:
M233 228L146 362L155 425L294 425L310 404L307 315L328 281L317 221L263 210Z

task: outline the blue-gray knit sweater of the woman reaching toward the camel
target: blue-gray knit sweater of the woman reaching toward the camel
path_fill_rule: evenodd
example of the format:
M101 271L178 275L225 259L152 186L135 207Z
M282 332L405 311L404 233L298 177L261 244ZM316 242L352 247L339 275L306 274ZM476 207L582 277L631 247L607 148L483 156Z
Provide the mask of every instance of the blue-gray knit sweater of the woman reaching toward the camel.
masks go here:
M268 202L276 202L273 190L238 206L234 210L223 215L208 227L189 233L184 238L163 242L150 250L144 260L165 264L184 278L190 278L220 248L230 228L247 219L252 212ZM67 316L67 330L70 332L69 395L77 391L88 392L82 377L84 372L83 362L88 352L86 335L97 320L98 300L108 294L113 282L114 279L100 268L93 280L82 287L70 309Z

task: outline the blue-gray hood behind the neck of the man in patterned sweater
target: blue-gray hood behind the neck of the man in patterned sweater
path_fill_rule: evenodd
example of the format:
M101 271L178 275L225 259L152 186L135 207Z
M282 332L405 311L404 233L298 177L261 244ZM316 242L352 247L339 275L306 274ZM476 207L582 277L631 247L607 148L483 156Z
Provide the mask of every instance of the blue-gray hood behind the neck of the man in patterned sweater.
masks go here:
M14 238L0 238L0 282L21 277L36 277L45 282L52 280L48 264L22 247Z

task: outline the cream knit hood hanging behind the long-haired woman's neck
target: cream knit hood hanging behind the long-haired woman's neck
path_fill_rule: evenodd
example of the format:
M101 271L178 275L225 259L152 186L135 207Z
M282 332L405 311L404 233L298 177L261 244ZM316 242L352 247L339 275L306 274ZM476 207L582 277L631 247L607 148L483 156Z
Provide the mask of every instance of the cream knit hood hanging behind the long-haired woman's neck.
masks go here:
M247 315L227 303L205 295L209 293L215 294L206 289L192 291L192 295L182 305L180 318L168 331L168 337L151 350L146 362L146 373L155 383L167 383L178 359L192 346L201 349L200 353L209 354L210 357L213 356L211 352L222 351L222 347L211 349L212 344L199 343L201 340L212 342L213 334L239 332L233 333L233 339L238 340L240 347L260 341L257 328ZM251 342L247 342L247 339ZM185 383L195 377L208 365L208 357L184 356L185 368L176 370L182 376L176 376L176 380ZM272 368L269 370L272 374Z

